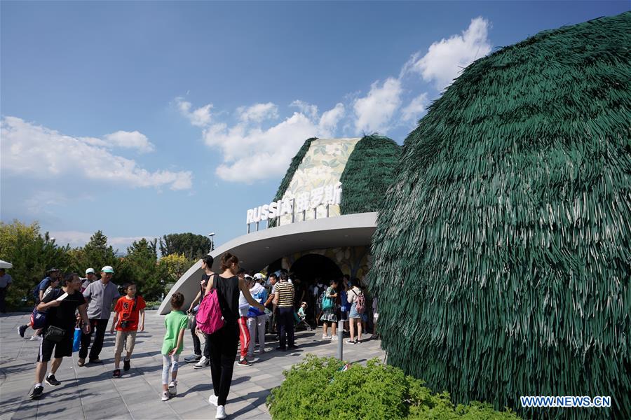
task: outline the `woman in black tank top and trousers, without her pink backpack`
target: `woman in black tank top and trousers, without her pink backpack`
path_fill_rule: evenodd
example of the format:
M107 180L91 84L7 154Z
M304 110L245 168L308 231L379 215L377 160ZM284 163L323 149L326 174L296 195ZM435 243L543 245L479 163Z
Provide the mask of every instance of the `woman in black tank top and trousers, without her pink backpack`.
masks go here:
M217 406L217 415L215 419L226 418L226 400L232 383L232 372L234 368L234 359L237 354L237 344L239 342L239 292L243 293L245 300L264 311L262 304L257 302L250 295L250 289L245 286L245 282L236 276L239 269L239 259L231 253L222 255L222 274L212 276L208 280L206 293L212 290L213 286L217 288L217 298L219 306L222 308L222 316L224 316L224 326L219 330L208 335L210 344L210 376L212 377L212 391L208 402ZM208 267L210 270L210 267ZM210 274L210 273L209 273Z

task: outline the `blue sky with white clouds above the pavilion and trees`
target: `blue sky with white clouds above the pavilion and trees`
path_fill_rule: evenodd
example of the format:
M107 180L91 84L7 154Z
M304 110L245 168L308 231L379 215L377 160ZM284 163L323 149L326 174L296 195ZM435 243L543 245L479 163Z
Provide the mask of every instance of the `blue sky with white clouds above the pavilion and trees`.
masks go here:
M1 220L245 233L308 137L402 144L459 67L628 1L2 1Z

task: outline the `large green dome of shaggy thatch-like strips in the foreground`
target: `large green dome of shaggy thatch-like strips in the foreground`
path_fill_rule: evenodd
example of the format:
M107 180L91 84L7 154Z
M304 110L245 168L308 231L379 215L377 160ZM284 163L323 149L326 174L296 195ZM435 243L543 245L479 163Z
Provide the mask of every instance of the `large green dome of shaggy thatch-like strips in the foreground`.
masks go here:
M543 31L409 134L369 274L388 363L527 418L631 418L630 45L631 13Z

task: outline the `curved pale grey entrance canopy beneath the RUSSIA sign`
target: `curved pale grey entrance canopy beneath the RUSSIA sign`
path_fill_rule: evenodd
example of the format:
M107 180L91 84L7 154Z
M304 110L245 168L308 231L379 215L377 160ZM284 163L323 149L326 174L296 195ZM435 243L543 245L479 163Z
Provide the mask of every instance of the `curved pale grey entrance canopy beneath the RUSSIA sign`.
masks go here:
M210 255L215 258L212 270L219 271L219 258L224 252L237 255L245 269L256 270L294 252L369 245L376 227L376 216L376 213L348 214L252 232L212 251ZM184 308L188 308L197 295L201 276L201 261L198 261L169 290L158 309L159 313L168 314L171 295L175 292L184 294Z

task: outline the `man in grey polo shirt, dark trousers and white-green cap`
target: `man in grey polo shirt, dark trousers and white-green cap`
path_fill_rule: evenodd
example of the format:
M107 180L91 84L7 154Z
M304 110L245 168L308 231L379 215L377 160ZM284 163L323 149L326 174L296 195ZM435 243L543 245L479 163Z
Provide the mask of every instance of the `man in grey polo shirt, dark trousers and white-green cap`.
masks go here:
M87 271L87 270L86 270ZM86 290L83 290L83 297L88 301L88 318L90 319L90 332L81 334L81 349L79 349L79 366L86 364L88 347L92 341L92 333L96 331L94 343L90 349L90 363L101 363L99 354L103 348L107 321L111 314L112 303L121 297L118 293L118 286L111 282L114 269L111 265L106 265L101 269L101 279L90 283Z

